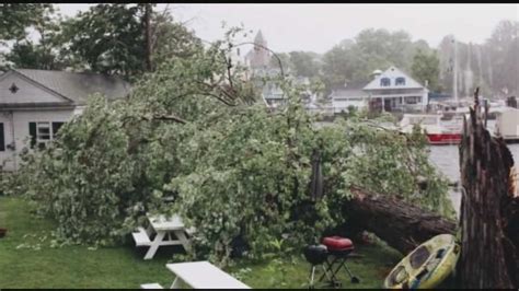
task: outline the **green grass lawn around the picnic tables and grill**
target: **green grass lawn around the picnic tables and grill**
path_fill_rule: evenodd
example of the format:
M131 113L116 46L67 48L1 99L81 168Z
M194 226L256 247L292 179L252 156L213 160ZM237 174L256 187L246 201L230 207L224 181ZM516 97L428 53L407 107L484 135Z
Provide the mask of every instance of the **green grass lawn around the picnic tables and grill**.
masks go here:
M53 222L31 214L30 206L18 198L0 197L0 228L8 234L0 238L1 288L139 288L159 282L169 287L173 280L165 264L176 248L159 248L152 260L143 260L145 249L132 245L102 247L50 247ZM351 284L341 273L343 288L380 288L401 255L382 245L359 246L361 258L348 260L360 278ZM252 288L305 288L310 265L302 257L295 264L284 261L282 269L273 261L240 260L227 271Z

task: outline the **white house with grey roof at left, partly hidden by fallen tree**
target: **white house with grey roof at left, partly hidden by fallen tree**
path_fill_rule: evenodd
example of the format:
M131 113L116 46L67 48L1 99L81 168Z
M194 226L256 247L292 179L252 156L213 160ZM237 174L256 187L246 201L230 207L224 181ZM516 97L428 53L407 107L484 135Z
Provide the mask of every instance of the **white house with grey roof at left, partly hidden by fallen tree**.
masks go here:
M45 147L91 94L113 100L129 90L119 78L93 73L16 69L0 74L0 170L16 170L24 148Z

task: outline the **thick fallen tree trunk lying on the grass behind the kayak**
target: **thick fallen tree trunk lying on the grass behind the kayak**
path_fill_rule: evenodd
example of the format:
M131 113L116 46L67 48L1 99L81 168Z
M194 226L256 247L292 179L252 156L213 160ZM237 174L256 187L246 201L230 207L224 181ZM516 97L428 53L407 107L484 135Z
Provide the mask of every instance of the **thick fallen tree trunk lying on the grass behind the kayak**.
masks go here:
M455 222L396 197L353 188L354 198L344 206L353 218L346 228L377 234L390 246L407 254L419 244L442 233L453 234Z

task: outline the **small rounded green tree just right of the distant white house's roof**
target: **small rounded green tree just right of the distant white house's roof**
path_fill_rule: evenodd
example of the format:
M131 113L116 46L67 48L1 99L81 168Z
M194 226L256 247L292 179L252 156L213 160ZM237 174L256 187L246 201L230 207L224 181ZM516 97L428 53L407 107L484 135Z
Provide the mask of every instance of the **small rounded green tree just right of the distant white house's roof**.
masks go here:
M440 72L440 60L436 51L427 54L418 49L413 58L411 67L413 78L422 84L428 83L428 88L432 91L441 91L438 84L438 77Z

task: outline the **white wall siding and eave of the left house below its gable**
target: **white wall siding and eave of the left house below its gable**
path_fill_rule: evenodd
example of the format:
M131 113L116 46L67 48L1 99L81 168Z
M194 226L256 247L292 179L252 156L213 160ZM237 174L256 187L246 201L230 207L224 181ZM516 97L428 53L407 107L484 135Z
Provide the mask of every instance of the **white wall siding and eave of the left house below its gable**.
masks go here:
M15 151L5 149L0 152L0 165L3 163L3 170L16 170L20 163L20 158L23 148L28 148L30 133L28 123L49 121L49 123L66 123L72 116L72 109L38 109L38 110L14 110L11 113L0 113L0 123L3 123L5 131L5 144L11 143L12 129L14 129ZM12 120L12 123L11 123Z

